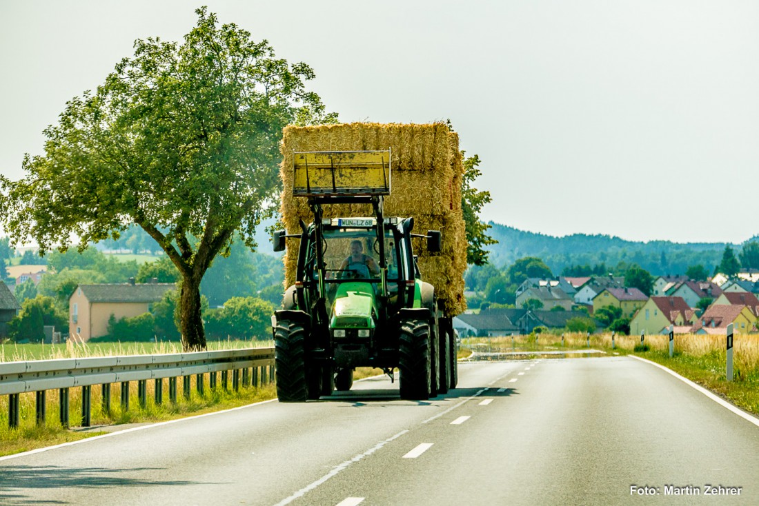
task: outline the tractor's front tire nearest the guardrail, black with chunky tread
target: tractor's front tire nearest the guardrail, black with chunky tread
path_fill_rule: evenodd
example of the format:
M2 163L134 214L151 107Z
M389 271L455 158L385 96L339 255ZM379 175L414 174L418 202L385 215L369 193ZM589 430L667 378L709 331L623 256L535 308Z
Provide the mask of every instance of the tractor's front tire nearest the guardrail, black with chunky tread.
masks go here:
M280 402L306 401L306 332L298 323L282 320L274 331L274 362Z

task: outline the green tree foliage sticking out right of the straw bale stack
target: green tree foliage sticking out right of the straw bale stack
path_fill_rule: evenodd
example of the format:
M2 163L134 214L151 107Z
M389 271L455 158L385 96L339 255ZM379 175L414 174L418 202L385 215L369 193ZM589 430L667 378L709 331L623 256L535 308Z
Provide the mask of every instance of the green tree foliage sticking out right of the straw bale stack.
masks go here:
M467 234L467 263L474 266L482 266L487 263L487 247L496 244L496 240L487 234L490 225L480 222L480 209L493 200L487 190L479 191L474 188L474 180L482 175L477 165L480 165L480 157L477 155L464 159L464 177L461 179L461 211L464 213L464 223Z

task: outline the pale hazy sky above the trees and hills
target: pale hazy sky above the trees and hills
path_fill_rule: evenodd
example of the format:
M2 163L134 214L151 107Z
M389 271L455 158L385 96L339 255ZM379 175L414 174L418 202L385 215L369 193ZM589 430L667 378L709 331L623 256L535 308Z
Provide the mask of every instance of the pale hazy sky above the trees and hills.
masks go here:
M759 2L0 0L0 171L134 39L208 5L317 73L342 121L450 118L482 159L481 218L562 236L759 233Z

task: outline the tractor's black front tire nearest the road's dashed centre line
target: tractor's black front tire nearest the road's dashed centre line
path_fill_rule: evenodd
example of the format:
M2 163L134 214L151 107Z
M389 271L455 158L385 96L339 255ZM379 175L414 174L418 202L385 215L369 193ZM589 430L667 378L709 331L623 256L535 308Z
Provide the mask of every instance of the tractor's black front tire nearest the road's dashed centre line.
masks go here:
M430 398L430 325L402 322L398 333L398 371L402 399L427 401Z

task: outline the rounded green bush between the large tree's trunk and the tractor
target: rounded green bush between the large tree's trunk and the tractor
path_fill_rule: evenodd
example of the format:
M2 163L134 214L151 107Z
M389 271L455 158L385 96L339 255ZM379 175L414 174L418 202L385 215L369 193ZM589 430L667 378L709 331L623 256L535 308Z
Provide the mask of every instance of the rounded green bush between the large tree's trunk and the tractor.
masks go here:
M208 310L206 332L215 338L269 339L274 307L257 297L232 297L223 307Z

